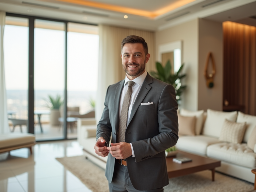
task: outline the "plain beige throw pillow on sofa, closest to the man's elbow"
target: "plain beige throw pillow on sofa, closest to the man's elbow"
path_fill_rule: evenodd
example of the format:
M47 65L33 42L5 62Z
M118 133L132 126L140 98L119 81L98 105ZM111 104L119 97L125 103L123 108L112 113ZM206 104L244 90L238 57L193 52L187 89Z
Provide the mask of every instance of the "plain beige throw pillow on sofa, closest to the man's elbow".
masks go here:
M196 117L185 117L178 114L178 123L179 123L179 135L196 135L195 133L195 124Z

